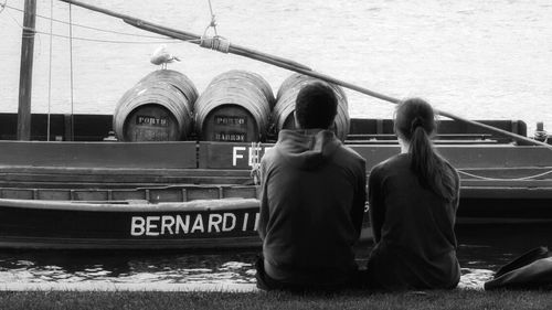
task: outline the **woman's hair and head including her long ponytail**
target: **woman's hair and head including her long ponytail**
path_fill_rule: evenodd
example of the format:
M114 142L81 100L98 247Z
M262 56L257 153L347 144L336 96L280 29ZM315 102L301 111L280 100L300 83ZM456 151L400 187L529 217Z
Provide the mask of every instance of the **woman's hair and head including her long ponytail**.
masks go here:
M456 171L434 149L429 135L435 131L432 106L423 99L403 101L395 115L395 131L410 142L411 169L423 188L446 201L457 196Z

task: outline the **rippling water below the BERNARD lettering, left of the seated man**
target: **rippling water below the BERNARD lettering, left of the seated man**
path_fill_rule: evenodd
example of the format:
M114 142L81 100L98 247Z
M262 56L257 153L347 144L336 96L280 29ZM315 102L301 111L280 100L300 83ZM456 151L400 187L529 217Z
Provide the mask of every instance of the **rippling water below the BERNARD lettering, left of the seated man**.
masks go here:
M0 282L248 284L255 253L10 252L0 255Z

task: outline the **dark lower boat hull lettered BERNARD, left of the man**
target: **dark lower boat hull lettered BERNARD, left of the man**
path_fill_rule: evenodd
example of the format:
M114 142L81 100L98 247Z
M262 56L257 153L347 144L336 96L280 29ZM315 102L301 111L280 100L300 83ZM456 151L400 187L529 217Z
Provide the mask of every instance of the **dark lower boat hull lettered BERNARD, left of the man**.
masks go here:
M0 247L192 249L259 246L258 201L72 203L0 200Z

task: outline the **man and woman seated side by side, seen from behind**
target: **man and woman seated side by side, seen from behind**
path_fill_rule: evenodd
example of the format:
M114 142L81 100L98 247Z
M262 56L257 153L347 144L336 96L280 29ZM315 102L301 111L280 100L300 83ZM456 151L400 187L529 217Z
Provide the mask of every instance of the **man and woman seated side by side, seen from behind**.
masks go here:
M353 245L367 199L365 161L328 130L336 114L336 95L327 84L305 86L295 107L299 129L282 130L262 159L257 287L455 288L460 277L454 233L459 179L433 149L432 107L422 99L397 106L401 153L371 169L375 246L362 271Z

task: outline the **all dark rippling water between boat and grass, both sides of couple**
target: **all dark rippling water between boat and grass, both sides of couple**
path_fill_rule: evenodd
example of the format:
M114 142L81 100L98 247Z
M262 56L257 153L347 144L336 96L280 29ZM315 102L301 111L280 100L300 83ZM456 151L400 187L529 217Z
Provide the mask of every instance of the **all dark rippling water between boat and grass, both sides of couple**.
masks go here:
M480 289L493 270L548 245L552 225L464 225L457 228L459 287ZM365 264L369 245L359 248ZM254 284L256 250L224 253L3 252L0 284Z

